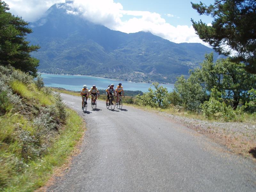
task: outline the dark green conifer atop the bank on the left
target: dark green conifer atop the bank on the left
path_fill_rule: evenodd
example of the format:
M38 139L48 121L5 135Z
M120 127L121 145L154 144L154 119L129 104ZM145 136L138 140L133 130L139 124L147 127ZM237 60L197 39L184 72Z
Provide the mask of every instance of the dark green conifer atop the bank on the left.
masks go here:
M25 36L32 33L32 29L26 27L28 22L6 12L8 10L8 5L0 0L0 65L11 65L36 77L39 60L31 57L30 52L40 47L26 41Z

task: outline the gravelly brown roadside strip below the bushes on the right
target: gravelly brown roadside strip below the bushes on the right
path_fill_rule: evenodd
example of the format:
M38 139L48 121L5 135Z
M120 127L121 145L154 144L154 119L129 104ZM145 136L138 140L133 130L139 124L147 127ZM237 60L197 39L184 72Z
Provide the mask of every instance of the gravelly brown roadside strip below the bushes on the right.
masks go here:
M225 145L232 153L250 158L256 162L256 125L238 122L208 122L188 117L158 112L160 115L172 118L199 133L212 138L215 142Z

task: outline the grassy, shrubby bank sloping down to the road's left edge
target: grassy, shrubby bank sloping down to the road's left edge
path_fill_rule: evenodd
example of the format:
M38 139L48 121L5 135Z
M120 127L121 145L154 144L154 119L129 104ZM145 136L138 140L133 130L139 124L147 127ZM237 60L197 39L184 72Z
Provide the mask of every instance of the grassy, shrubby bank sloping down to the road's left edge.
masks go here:
M42 186L82 136L82 124L40 77L0 66L0 190Z

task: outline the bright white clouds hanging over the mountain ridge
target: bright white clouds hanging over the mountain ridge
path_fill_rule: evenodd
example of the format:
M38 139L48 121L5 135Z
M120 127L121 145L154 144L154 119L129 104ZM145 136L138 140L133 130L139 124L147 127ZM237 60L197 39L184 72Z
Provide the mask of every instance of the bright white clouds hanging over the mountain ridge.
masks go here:
M24 20L35 21L55 3L65 3L65 0L6 0L11 12L22 15ZM22 7L22 9L20 9ZM110 29L125 33L148 31L154 35L168 39L175 43L204 43L195 34L192 26L174 27L166 23L160 14L147 11L123 10L120 3L113 0L74 0L67 4L67 13L79 14L87 20L102 24ZM122 21L124 15L133 16L129 20ZM174 17L172 14L166 14Z

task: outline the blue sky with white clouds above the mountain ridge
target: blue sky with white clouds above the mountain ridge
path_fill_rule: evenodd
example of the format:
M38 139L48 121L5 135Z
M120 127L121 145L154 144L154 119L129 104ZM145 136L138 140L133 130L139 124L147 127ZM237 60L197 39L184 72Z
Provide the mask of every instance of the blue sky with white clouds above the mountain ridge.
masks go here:
M73 0L67 13L124 33L151 32L174 43L204 43L195 34L191 18L210 24L210 16L199 15L191 3L200 0ZM201 0L209 5L213 0ZM28 22L39 20L53 4L65 0L4 0L15 16Z

